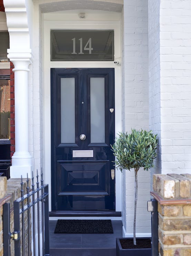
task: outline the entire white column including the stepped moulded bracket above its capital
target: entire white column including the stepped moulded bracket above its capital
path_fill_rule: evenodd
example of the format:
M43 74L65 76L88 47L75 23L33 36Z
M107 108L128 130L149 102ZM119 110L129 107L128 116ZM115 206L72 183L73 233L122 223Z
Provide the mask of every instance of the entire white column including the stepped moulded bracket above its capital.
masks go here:
M14 64L15 153L10 167L11 178L29 177L32 157L29 153L28 72L31 63L33 3L30 0L3 0L9 31L8 58ZM30 27L30 29L29 29ZM30 31L29 31L30 30Z

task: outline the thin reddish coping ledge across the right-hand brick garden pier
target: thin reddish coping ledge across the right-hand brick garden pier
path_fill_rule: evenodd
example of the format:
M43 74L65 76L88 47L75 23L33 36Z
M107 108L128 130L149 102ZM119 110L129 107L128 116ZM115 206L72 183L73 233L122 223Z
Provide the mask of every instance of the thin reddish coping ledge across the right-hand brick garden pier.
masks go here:
M154 197L161 205L181 205L181 204L191 204L191 198L189 199L163 199L158 193L151 191L151 196Z

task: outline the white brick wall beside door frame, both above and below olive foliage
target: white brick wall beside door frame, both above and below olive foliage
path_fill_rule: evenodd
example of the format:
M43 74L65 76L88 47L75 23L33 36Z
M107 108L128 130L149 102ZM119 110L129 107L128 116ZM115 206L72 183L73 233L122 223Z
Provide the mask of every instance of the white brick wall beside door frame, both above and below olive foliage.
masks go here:
M124 55L124 56L123 56ZM124 0L123 130L149 128L148 1ZM150 233L150 173L138 172L137 233ZM132 236L134 171L123 173L123 232Z

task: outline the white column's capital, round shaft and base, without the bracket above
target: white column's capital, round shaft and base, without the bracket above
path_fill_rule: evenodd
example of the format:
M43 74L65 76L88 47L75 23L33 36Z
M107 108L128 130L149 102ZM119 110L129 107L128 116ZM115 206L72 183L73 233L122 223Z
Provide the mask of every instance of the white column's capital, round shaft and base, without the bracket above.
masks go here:
M18 57L18 58L17 58ZM14 64L14 111L15 111L15 152L10 167L11 178L29 177L32 169L32 156L28 143L28 72L30 53L9 53Z

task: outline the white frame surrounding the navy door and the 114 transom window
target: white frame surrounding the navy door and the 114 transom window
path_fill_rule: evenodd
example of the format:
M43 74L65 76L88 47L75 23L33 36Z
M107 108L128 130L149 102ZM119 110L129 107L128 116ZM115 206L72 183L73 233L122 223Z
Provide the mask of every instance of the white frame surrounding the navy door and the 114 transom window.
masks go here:
M93 11L98 15L79 21L77 12L43 14L43 152L44 181L49 184L49 208L51 211L51 116L50 116L50 68L114 68L115 69L115 135L122 131L121 65L113 61L50 61L50 29L114 30L114 58L121 58L121 18L119 13ZM74 11L75 12L75 11ZM86 11L87 12L87 11ZM91 11L90 11L91 12ZM64 15L63 15L64 14ZM75 16L74 16L75 15ZM76 19L71 19L76 17ZM95 18L96 17L96 18ZM114 19L114 20L113 20ZM122 175L115 172L115 209L122 211ZM92 217L91 217L92 218ZM110 217L111 218L111 217Z

